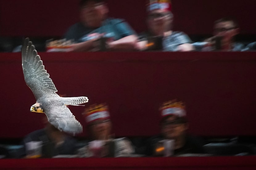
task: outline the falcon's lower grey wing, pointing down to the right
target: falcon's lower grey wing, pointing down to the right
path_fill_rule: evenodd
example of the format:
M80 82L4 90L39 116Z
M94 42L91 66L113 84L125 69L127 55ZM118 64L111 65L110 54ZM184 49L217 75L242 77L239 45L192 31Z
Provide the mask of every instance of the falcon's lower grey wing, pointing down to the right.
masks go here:
M68 133L83 132L81 123L76 120L75 116L71 113L68 107L65 105L59 107L49 107L50 108L47 108L44 113L47 115L48 121L60 131Z

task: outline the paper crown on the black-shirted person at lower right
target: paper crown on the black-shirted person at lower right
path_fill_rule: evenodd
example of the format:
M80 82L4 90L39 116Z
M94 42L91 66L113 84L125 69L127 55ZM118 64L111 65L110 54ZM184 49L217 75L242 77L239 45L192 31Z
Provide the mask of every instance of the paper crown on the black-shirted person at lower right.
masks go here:
M163 103L161 105L161 107L159 108L159 110L160 110L160 114L162 117L165 117L168 115L175 115L178 117L186 117L184 103L177 102L176 99Z

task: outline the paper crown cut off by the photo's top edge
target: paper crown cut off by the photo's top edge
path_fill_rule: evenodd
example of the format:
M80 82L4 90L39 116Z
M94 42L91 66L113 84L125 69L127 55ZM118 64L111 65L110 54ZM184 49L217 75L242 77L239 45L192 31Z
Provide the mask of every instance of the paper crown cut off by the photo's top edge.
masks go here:
M153 10L171 11L171 0L149 0L147 11Z

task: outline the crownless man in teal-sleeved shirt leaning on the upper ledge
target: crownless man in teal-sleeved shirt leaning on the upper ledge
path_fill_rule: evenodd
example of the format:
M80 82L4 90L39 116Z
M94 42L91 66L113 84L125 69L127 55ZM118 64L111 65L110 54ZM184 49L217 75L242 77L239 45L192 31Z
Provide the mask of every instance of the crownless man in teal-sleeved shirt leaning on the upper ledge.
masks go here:
M103 0L81 0L80 22L64 35L76 42L71 51L93 51L102 44L107 50L134 50L137 42L134 30L123 19L108 18L108 12Z

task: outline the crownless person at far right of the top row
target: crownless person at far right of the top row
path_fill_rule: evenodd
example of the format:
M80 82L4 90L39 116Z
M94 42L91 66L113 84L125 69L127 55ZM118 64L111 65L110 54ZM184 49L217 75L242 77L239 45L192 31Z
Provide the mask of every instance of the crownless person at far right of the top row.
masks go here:
M197 51L244 51L240 42L235 42L235 36L240 28L233 18L221 18L214 22L213 37L204 42L193 43Z

